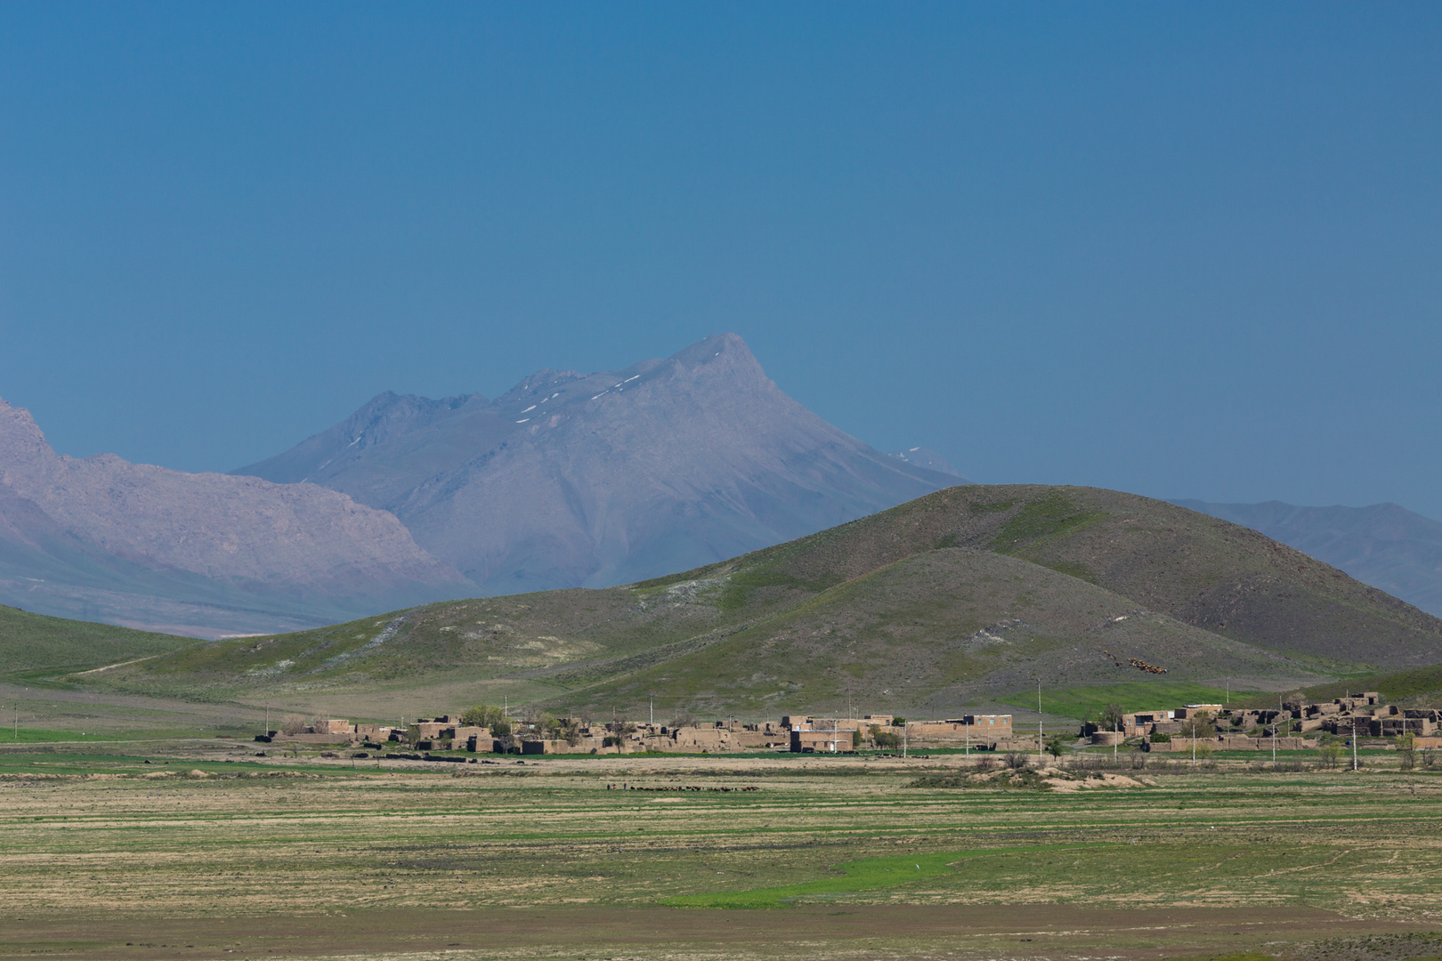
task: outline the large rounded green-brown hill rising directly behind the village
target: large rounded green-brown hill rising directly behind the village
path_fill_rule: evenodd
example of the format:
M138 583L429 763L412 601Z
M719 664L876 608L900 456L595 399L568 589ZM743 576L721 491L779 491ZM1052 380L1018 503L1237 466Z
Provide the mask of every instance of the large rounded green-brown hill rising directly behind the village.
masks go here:
M88 683L623 713L655 694L668 716L770 716L999 706L1038 677L1158 699L1436 661L1442 621L1255 532L1118 491L973 486L668 578L196 644Z

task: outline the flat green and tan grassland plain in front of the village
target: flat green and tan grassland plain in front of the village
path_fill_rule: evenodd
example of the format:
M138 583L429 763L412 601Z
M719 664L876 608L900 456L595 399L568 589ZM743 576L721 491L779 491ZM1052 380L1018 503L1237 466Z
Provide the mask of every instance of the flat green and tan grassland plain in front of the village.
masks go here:
M1393 752L1001 790L910 787L959 755L85 751L0 751L0 957L1442 954L1442 775Z

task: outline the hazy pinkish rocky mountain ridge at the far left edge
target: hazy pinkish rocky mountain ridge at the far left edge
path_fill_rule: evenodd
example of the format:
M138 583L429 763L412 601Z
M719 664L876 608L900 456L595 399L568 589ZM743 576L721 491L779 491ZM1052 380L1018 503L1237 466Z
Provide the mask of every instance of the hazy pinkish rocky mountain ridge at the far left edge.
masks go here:
M0 599L215 635L464 594L395 517L313 484L58 455L0 401Z

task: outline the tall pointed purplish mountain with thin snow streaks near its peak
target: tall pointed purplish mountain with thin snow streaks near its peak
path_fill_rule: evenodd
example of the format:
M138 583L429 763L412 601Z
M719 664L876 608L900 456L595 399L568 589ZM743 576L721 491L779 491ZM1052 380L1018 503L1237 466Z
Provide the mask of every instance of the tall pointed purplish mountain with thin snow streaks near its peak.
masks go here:
M734 334L617 372L542 370L496 401L381 395L236 473L389 510L487 594L656 576L957 480L810 414Z

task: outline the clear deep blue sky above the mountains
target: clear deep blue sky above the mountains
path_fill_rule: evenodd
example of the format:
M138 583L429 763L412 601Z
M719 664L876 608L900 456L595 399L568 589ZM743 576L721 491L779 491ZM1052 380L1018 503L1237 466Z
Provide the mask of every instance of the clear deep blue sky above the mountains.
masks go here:
M1442 4L0 4L0 396L228 470L741 334L982 481L1442 517Z

